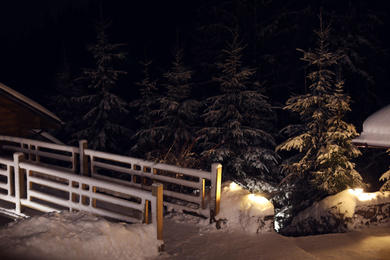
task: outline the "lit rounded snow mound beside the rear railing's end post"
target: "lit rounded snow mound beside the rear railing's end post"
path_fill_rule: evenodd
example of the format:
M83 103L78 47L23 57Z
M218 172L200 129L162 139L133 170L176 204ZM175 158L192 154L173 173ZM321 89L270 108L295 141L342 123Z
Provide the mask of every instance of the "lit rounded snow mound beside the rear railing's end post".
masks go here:
M252 194L234 182L225 182L217 228L242 229L250 233L273 231L274 206L259 194Z

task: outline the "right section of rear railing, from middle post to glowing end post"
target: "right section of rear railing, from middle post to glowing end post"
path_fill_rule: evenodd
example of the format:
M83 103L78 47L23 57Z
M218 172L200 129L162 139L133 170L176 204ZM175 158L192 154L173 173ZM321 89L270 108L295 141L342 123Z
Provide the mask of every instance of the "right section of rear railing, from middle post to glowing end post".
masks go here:
M211 171L182 168L142 159L85 149L93 178L150 190L154 182L164 184L168 208L213 217L219 212L220 164Z

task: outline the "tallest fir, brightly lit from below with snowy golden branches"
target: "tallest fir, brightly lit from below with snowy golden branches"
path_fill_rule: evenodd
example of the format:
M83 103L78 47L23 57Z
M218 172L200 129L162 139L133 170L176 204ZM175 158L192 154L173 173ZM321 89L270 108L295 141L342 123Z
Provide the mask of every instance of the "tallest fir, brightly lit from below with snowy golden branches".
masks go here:
M308 78L309 92L293 96L285 109L296 112L304 123L304 131L277 147L278 150L297 150L300 158L284 165L288 173L285 181L303 189L301 195L315 198L334 194L347 187L363 185L354 170L353 158L359 151L351 139L356 130L343 121L349 108L349 97L343 93L343 83L335 84L335 68L341 58L339 52L330 52L327 44L330 27L324 27L320 15L320 29L316 31L318 46L314 51L303 51L302 60L313 68Z

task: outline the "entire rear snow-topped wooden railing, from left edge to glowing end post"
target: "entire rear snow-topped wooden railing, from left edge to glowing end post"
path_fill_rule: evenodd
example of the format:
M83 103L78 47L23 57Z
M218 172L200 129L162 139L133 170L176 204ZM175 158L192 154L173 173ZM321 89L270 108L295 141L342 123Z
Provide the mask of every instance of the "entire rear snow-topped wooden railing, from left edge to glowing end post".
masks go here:
M0 136L0 141L3 154L22 152L32 164L53 172L76 173L146 191L159 182L164 186L164 205L168 209L210 219L219 212L222 166L217 163L211 165L211 171L182 168L90 150L85 140L79 142L79 147L9 136Z

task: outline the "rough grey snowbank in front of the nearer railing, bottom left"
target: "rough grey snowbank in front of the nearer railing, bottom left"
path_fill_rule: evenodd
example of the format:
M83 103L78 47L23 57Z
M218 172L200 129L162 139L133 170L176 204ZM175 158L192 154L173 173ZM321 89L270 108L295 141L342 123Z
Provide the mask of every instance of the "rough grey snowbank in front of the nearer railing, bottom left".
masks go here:
M156 224L112 223L74 212L51 212L0 232L2 257L20 259L145 259L159 254ZM0 257L1 258L1 257Z

